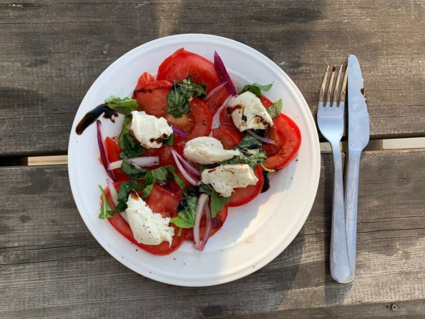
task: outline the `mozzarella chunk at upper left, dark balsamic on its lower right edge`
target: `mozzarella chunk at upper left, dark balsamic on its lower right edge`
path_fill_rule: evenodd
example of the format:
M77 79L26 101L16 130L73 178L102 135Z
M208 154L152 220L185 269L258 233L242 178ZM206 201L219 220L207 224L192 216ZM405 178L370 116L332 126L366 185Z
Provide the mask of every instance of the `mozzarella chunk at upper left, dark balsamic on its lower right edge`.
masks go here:
M130 129L134 137L146 148L160 148L172 133L171 126L164 117L148 115L144 111L132 111Z

